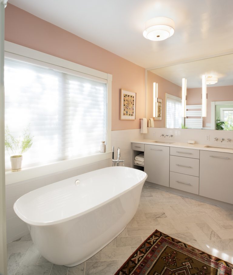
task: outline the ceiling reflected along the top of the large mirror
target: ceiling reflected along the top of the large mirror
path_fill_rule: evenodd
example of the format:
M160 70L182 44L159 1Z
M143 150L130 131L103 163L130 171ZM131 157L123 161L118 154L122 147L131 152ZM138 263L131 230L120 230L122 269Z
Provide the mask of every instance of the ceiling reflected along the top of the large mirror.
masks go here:
M187 79L187 88L201 88L202 75L218 77L216 84L207 87L233 85L233 53L203 60L177 64L151 70L152 73L182 86Z

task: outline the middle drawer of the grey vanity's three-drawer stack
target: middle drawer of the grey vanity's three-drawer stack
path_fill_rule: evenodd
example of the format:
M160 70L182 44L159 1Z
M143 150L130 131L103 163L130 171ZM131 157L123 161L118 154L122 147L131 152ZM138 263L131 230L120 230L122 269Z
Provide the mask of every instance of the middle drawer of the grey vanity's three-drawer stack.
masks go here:
M199 160L170 156L170 171L199 177Z

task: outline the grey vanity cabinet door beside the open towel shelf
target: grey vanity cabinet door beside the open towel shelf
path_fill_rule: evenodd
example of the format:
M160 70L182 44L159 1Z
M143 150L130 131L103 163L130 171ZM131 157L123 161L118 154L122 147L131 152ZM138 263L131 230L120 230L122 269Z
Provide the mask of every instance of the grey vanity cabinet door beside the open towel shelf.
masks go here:
M169 157L170 147L145 144L144 172L147 181L169 186Z

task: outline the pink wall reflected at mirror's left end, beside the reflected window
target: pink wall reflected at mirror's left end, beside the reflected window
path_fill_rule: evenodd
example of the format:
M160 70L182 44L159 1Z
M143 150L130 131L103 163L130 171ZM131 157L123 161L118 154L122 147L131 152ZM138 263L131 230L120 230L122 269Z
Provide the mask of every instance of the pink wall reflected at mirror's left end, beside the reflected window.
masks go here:
M155 120L154 127L165 127L165 93L181 98L182 88L150 71L147 73L147 119L153 118L153 82L158 83L158 98L163 100L162 120Z

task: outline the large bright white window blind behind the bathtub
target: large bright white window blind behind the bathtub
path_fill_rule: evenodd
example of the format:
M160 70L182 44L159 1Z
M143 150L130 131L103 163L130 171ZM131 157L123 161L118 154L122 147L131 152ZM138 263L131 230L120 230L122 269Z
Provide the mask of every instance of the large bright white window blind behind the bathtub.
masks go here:
M5 125L15 137L30 125L33 136L23 167L99 152L106 100L106 83L5 59Z

